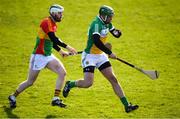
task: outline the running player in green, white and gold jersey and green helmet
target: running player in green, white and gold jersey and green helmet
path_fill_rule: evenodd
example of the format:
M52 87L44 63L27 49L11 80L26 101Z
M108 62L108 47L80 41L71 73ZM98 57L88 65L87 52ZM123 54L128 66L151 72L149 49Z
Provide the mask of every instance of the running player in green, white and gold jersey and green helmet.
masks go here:
M115 29L111 23L113 16L114 10L111 7L106 5L100 7L99 15L95 17L89 27L87 45L82 53L84 79L67 81L63 89L63 96L67 97L73 87L89 88L92 86L94 70L98 68L103 76L111 83L115 94L119 97L120 102L125 107L125 111L128 113L136 110L138 105L132 105L127 101L108 59L108 56L112 59L116 59L117 57L104 45L107 42L108 32L116 38L121 36L120 30Z

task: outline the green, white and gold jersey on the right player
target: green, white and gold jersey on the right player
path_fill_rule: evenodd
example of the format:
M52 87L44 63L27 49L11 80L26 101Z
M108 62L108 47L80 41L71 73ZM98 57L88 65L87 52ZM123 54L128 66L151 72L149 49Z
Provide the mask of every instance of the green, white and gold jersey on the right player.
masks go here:
M101 42L105 43L107 41L108 32L112 29L114 29L112 23L105 24L99 16L96 16L88 30L88 41L85 52L90 54L101 54L102 51L96 47L92 36L94 34L100 35Z

